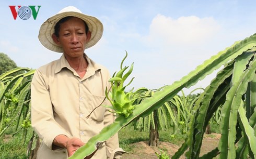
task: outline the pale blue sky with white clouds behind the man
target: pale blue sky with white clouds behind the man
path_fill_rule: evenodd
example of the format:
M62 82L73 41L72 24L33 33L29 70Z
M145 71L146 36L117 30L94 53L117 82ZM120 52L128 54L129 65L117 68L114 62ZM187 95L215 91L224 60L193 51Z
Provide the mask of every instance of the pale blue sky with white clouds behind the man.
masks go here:
M36 19L16 20L9 6L41 6ZM256 1L38 1L0 2L0 52L19 67L37 69L62 54L44 48L38 40L41 24L62 8L75 6L97 17L104 26L100 41L85 53L112 75L128 52L124 65L134 62L127 89L158 89L179 81L197 65L256 33ZM216 75L195 86L205 88ZM130 78L131 78L130 77ZM127 83L129 82L129 79Z

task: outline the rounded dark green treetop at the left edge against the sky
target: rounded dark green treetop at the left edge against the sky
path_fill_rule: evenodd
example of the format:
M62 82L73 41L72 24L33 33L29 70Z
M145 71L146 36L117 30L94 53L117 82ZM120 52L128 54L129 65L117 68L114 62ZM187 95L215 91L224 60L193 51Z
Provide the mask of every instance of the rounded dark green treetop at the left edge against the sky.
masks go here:
M11 60L6 54L0 52L0 75L15 68L17 68L16 63Z

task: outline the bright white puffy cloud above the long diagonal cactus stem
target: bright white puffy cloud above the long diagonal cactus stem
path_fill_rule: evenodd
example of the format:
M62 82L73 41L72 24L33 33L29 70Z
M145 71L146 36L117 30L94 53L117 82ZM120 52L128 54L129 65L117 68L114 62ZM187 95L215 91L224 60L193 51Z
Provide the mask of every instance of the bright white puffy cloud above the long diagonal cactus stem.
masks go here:
M213 36L220 26L212 17L199 18L196 16L172 19L157 15L150 24L147 42L164 44L193 44L205 41Z

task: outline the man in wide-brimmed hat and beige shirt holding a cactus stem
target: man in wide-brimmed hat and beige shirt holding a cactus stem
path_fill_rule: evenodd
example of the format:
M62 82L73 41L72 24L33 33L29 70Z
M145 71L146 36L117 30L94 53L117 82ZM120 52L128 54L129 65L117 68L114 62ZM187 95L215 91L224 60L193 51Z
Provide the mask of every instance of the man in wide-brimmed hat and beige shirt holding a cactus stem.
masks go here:
M37 158L67 158L114 121L104 107L86 118L110 87L108 70L84 53L102 33L97 18L75 7L62 9L41 25L38 37L42 45L63 55L40 67L32 79L31 122L42 139ZM115 135L92 158L120 158L122 151Z

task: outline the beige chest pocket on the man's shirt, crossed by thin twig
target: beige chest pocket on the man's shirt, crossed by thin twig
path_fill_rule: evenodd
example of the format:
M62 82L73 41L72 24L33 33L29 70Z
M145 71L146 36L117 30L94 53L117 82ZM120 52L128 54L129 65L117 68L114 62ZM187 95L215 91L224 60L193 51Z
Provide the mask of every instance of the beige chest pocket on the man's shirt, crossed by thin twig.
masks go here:
M91 119L98 122L103 121L106 108L103 107L102 105L108 105L108 99L106 99L103 96L92 95L91 102L92 102L91 111L93 111L90 115Z

